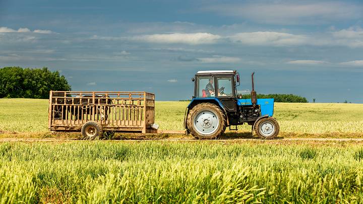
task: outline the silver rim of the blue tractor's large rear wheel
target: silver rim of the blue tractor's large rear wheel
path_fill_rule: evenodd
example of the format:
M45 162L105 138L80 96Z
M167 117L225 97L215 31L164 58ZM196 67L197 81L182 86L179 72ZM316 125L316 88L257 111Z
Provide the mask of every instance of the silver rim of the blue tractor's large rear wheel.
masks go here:
M200 134L213 134L217 131L218 126L218 116L210 110L201 111L194 118L194 128Z

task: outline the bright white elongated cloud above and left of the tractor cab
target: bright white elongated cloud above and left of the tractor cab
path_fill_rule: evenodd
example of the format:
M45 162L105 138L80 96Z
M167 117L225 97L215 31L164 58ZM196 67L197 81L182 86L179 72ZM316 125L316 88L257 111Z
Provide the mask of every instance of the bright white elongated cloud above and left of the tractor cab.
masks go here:
M149 43L180 43L180 44L213 44L221 36L210 33L171 33L171 34L153 34L132 37L136 41L145 41Z

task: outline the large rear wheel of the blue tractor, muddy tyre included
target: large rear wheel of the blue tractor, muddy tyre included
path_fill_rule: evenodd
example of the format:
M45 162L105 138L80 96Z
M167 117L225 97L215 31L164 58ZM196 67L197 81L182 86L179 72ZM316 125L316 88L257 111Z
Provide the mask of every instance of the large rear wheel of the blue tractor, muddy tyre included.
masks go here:
M190 110L187 126L196 139L217 139L226 128L226 115L215 104L200 103Z

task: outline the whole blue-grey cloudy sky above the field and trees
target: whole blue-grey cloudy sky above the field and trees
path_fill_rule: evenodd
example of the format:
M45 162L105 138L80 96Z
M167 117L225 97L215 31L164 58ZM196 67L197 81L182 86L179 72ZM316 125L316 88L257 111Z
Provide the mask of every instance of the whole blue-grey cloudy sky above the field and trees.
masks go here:
M191 99L198 71L241 93L363 103L362 1L0 0L0 67L48 67L75 91Z

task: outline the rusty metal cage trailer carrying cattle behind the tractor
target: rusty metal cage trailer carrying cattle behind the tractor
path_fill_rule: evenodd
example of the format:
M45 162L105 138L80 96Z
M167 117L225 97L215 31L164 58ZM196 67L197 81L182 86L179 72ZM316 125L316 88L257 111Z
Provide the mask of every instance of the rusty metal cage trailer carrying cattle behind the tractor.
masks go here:
M155 133L155 95L50 91L48 120L49 130L81 130L87 139L96 138L104 130Z

